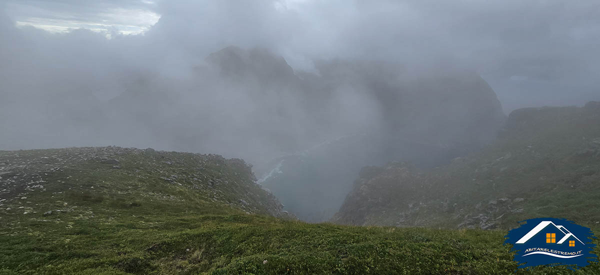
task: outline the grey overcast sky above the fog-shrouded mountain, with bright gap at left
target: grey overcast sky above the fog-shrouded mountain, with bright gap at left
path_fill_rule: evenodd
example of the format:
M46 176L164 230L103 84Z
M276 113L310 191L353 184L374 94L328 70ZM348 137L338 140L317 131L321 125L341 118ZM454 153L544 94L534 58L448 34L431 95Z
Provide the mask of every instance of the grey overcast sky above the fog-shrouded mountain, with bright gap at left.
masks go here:
M600 100L596 0L6 0L2 8L21 29L146 33L140 43L169 49L169 70L235 44L268 47L296 70L331 58L467 67L490 83L505 112ZM119 43L106 47L136 54Z

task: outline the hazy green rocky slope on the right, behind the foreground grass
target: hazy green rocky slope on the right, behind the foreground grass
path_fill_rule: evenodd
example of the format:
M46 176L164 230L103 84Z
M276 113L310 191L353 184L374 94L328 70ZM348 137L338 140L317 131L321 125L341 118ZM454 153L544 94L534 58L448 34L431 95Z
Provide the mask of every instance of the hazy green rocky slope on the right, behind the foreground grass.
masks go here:
M334 217L353 225L512 228L532 217L600 222L600 103L519 109L480 153L419 171L361 171Z

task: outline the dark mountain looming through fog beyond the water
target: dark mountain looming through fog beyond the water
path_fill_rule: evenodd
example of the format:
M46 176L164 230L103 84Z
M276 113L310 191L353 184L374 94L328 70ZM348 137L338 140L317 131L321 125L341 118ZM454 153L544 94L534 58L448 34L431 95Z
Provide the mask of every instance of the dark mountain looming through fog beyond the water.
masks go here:
M286 120L289 128L304 127L310 133L304 136L320 142L374 131L378 138L408 134L470 146L495 138L505 119L487 82L455 68L413 71L394 63L334 60L316 62L317 73L295 73L268 50L234 46L211 53L206 61L225 81L243 84L246 94L271 109L270 115Z

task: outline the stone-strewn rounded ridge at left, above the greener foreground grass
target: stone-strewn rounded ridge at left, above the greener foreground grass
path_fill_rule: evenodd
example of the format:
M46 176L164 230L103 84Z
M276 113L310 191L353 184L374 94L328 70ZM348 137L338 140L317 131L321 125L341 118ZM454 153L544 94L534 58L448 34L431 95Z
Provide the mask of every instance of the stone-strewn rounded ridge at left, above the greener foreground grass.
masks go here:
M151 148L0 151L0 211L5 214L77 212L89 218L98 209L148 205L293 218L256 184L251 166L241 159Z

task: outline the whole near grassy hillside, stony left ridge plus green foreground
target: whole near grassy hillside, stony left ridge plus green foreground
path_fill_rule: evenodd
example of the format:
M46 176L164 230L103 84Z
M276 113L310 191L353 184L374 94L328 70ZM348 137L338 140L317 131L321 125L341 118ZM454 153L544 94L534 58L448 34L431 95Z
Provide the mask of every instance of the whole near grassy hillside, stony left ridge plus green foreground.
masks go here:
M517 267L502 246L505 231L278 218L289 216L254 184L250 168L219 156L3 151L0 177L2 275L511 274ZM599 265L578 272L596 273Z

